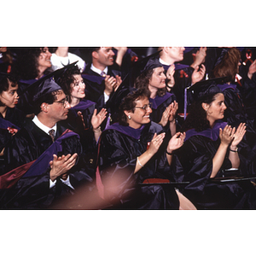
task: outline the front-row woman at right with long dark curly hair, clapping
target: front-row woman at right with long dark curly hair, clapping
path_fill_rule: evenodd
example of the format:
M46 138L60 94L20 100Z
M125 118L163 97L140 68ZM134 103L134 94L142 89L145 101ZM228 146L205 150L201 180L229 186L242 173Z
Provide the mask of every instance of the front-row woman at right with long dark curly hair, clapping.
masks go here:
M230 168L237 169L236 176L242 172L238 148L245 125L236 129L221 121L226 107L215 84L201 84L193 91L195 102L183 124L186 139L175 159L175 179L189 182L183 195L198 209L254 209L256 194L250 181L218 180L234 176L228 174Z

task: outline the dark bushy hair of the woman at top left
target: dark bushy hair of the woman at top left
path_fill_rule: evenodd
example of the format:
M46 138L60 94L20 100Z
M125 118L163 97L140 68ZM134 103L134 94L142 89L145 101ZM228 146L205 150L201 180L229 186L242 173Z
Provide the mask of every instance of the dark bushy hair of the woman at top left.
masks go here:
M36 79L38 77L38 57L43 51L44 47L24 47L20 49L17 59L14 63L12 72L19 79ZM47 69L45 73L48 73Z

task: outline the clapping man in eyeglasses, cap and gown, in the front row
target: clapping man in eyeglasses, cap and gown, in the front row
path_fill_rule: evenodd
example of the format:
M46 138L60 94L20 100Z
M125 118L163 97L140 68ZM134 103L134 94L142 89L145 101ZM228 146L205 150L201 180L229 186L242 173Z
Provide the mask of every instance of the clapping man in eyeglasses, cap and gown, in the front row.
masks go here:
M68 109L71 108L61 87L52 79L42 79L42 83L36 87L33 103L35 117L26 122L6 148L7 166L13 170L38 160L43 154L46 154L46 158L34 171L29 169L9 190L8 200L0 198L2 208L49 207L62 195L73 194L81 183L91 183L93 180L77 163L82 153L79 136L72 133L73 136L67 137L66 128L58 124L67 119ZM61 139L63 134L65 139ZM53 143L59 147L55 154L47 151L53 148ZM40 171L45 164L47 167ZM9 195L12 195L10 199ZM5 204L6 201L8 204Z

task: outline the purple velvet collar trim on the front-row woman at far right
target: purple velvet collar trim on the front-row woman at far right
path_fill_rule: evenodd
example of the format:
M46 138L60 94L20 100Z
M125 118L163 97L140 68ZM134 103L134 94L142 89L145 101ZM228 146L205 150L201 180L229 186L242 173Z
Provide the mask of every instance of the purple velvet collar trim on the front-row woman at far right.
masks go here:
M219 128L224 129L224 127L227 125L226 122L223 122L221 120L217 121L212 129L208 128L205 131L195 131L195 129L191 129L189 131L186 131L186 138L184 141L187 141L189 137L199 135L203 137L208 137L212 139L212 141L216 141L219 136Z

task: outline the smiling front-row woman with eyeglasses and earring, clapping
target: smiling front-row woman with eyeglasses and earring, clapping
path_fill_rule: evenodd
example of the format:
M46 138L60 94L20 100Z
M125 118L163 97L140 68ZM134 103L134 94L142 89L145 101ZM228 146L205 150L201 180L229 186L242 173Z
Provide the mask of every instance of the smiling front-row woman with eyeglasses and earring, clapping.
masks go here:
M164 143L162 127L150 121L148 97L148 90L134 90L125 96L119 107L119 123L102 131L98 165L102 184L108 187L104 196L112 203L110 208L183 207L179 201L183 196L171 183L141 184L148 178L171 177L172 151L181 147L185 137L185 133L177 133Z

